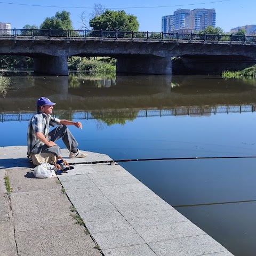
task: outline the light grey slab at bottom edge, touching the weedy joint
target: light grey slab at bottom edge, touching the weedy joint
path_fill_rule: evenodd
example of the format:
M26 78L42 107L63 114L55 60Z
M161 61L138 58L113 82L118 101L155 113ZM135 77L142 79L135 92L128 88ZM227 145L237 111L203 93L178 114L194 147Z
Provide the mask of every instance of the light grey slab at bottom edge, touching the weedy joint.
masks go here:
M147 244L106 249L103 253L105 256L156 256Z

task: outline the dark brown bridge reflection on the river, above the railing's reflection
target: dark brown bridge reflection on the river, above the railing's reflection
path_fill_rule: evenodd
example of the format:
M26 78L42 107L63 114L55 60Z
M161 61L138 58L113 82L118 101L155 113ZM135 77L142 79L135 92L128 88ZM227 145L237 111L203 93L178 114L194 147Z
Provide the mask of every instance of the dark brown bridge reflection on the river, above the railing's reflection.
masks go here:
M0 110L35 109L45 95L58 102L58 110L164 109L196 106L252 105L254 80L228 80L202 76L11 76ZM19 91L19 93L17 93ZM23 102L26 100L26 105ZM15 105L13 105L15 102Z

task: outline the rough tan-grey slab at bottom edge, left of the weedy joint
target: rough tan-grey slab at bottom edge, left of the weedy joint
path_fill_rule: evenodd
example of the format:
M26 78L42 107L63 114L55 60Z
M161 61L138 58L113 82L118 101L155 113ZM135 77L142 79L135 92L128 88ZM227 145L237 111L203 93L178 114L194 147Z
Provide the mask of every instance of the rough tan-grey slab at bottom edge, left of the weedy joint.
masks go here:
M95 244L90 235L86 235L84 230L79 225L68 225L18 232L18 253L20 256L101 256L100 251L94 249Z

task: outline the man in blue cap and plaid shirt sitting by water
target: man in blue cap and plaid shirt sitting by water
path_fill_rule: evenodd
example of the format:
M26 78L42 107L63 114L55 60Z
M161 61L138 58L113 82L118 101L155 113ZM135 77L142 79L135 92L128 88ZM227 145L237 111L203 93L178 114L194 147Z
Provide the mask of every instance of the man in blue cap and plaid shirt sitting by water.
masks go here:
M55 144L55 141L60 138L70 151L69 158L86 157L88 154L77 149L78 143L66 126L75 125L82 129L82 124L52 117L55 104L45 97L37 100L37 113L31 117L28 124L28 157L31 157L31 154L42 153L53 153L57 157L60 156L60 147ZM58 125L58 127L49 132L50 125Z

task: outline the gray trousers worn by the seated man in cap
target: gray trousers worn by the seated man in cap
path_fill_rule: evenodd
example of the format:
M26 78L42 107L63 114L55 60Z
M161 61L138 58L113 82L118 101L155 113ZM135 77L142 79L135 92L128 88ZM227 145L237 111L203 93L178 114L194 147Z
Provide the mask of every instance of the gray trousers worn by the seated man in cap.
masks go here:
M55 129L53 129L51 132L48 134L48 140L50 141L57 141L58 139L62 139L64 142L65 146L69 151L71 151L73 148L76 148L78 143L76 139L74 138L73 134L68 130L66 125L58 125ZM47 145L44 145L42 147L42 153L53 153L57 156L60 156L60 147L55 145L52 147L48 147Z

